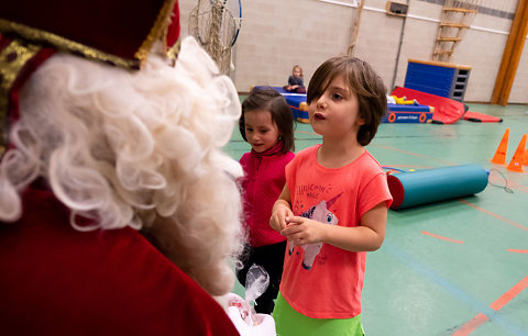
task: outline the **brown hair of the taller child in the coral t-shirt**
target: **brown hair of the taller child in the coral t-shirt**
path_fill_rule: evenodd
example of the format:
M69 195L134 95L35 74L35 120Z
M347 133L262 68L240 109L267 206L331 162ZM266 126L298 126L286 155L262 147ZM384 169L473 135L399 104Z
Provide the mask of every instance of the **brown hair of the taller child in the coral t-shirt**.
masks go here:
M358 94L359 113L365 121L358 132L358 142L366 146L376 135L377 126L387 113L387 89L366 61L352 56L338 56L321 64L308 86L307 103L318 100L330 82L341 75L349 88Z

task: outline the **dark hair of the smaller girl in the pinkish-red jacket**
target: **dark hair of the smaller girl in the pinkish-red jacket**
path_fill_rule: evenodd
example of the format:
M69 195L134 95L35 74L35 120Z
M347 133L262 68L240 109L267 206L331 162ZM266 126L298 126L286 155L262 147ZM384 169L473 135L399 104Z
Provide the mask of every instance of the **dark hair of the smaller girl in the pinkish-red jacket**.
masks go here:
M272 114L272 122L277 125L280 141L283 142L283 153L295 150L294 139L294 119L292 110L286 102L286 99L271 88L253 89L250 96L242 102L242 115L239 120L240 134L245 138L245 119L244 114L248 111L270 111Z

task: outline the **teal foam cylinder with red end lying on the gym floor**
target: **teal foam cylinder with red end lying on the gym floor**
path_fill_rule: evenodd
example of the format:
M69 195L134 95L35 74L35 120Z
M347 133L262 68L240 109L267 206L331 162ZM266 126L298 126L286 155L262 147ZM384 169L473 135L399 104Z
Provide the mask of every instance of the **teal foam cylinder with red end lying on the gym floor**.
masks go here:
M472 195L487 186L488 172L479 165L398 172L387 176L391 209L405 209Z

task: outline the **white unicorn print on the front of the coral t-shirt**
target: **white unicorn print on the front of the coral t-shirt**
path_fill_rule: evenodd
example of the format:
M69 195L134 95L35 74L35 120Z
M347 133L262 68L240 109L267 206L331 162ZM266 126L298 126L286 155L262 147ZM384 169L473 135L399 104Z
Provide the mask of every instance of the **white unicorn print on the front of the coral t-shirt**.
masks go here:
M304 212L300 216L305 219L310 219L314 221L318 221L324 224L337 225L338 217L336 214L330 212L328 209L336 202L336 200L341 195L338 194L337 197L332 198L330 201L322 200L319 204L311 206L308 211ZM293 242L288 242L289 246L289 255L294 251L295 245ZM305 250L305 257L302 259L302 268L310 270L314 266L314 261L316 260L317 255L322 248L322 243L316 244L308 244L301 246Z

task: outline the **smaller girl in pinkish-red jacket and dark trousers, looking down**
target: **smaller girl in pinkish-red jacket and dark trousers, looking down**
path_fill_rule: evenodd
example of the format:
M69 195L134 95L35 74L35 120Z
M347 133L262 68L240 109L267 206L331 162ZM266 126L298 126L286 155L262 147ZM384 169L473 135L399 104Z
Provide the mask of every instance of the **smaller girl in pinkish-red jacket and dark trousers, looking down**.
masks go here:
M271 314L283 273L286 238L270 227L270 216L284 188L284 168L294 158L294 121L284 97L273 89L262 89L251 92L242 103L239 125L242 137L251 145L251 152L240 159L250 244L237 277L244 285L253 264L267 271L270 285L256 299L255 311Z

